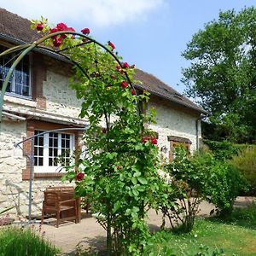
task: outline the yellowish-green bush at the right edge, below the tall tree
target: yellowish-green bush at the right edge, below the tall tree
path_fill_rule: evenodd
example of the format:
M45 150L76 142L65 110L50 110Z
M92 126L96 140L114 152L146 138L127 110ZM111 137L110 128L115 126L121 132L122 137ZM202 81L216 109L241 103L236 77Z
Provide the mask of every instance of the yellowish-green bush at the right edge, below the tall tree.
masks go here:
M252 193L256 193L256 147L248 147L234 156L230 164L241 171L251 186Z

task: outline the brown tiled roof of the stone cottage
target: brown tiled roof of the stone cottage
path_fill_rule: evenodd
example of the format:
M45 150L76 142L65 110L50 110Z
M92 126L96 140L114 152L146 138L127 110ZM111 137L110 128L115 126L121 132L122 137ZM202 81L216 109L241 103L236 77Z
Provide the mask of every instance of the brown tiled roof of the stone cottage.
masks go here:
M0 8L0 38L5 38L16 43L29 43L40 36L38 32L30 29L31 21L10 13L6 9ZM193 108L196 111L205 113L205 111L194 102L189 101L188 98L182 96L177 90L163 83L154 75L143 72L140 69L136 71L136 78L143 82L143 85L137 84L137 88L141 90L148 90L155 96L160 96L168 101L176 102L187 108Z

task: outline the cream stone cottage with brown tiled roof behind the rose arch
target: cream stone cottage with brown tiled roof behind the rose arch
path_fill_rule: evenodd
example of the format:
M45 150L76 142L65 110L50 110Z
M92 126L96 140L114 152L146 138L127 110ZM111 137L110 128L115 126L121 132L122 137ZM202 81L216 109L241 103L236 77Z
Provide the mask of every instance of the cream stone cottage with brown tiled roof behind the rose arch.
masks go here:
M29 20L0 9L0 52L38 38L30 25ZM8 61L6 57L0 59L0 89ZM27 212L30 160L26 155L31 154L31 141L21 143L20 148L15 148L14 143L41 131L73 128L35 138L32 212L40 211L44 189L61 183L63 173L55 157L79 145L82 133L74 128L86 125L86 120L79 119L81 102L68 87L69 74L67 61L39 50L26 55L16 67L4 96L0 124L0 209L15 206L17 214ZM197 149L203 110L151 74L137 70L136 79L143 82L137 90L151 93L148 108L154 107L157 113L157 124L151 128L158 134L162 154L172 159L172 149L178 143L190 151Z

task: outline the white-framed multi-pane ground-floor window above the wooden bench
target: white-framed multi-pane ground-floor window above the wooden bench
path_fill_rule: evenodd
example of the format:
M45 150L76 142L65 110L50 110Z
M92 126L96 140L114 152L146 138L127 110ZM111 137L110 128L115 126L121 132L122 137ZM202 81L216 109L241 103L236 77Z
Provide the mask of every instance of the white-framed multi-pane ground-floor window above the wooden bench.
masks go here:
M44 131L35 131L35 135L42 132ZM68 165L73 149L74 136L72 134L49 132L35 137L35 172L59 171L61 165Z

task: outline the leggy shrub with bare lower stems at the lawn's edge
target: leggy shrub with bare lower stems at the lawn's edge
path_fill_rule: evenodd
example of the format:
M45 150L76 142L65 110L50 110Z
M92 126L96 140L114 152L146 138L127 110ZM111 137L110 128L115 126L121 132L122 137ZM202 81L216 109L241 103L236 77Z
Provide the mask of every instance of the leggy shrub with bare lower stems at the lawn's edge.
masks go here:
M198 172L184 148L175 148L175 158L166 165L170 190L167 200L161 205L163 224L169 218L172 230L190 232L195 222L195 214L202 199L204 173Z

